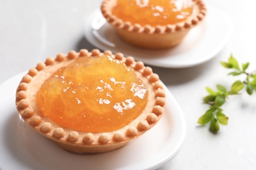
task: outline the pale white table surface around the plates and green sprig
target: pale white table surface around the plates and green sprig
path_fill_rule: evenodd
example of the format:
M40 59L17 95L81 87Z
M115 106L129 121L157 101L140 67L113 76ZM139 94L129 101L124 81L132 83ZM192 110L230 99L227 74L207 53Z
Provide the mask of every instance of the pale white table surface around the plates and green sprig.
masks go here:
M0 0L0 83L26 71L49 56L69 50L95 48L83 37L83 22L100 6L99 0ZM256 68L256 2L205 0L234 22L234 33L217 56L186 69L152 67L181 106L186 119L186 138L181 151L163 169L256 169L256 93L230 97L224 105L228 126L217 135L198 127L207 109L205 86L230 87L237 78L227 76L220 61L232 53ZM209 42L209 46L211 43ZM3 97L3 96L1 96ZM1 104L0 104L1 105Z

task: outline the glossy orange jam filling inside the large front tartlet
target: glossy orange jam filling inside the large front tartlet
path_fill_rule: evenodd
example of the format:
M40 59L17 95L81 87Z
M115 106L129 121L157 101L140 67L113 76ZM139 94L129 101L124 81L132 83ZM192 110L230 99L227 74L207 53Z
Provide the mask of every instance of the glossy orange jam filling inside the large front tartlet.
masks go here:
M77 58L47 79L37 104L43 116L77 131L119 129L146 106L148 90L133 69L108 55Z

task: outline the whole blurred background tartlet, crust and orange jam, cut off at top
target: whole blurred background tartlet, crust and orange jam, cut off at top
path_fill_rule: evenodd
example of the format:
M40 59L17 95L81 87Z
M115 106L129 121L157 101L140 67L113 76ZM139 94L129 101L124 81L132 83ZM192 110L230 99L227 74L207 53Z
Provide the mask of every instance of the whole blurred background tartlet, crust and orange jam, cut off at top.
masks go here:
M202 0L104 0L101 12L124 41L162 49L180 44L206 8Z

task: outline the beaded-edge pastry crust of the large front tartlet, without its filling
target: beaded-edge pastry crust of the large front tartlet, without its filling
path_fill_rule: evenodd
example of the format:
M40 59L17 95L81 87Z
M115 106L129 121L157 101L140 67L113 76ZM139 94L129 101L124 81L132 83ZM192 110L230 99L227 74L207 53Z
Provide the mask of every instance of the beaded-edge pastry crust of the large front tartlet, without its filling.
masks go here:
M41 101L37 100L39 96L37 93L41 92L43 84L56 76L54 75L56 71L69 67L79 58L91 61L93 58L98 59L103 56L104 58L108 56L109 59L125 65L127 70L134 71L138 80L144 84L148 97L139 116L123 127L107 131L103 129L100 132L64 127L52 120L50 116L45 116L39 107ZM155 126L163 114L164 105L165 91L159 76L153 73L150 67L145 67L141 61L135 61L131 56L125 58L121 53L114 55L109 50L103 53L97 49L91 52L85 49L79 52L72 50L67 55L58 54L56 58L47 58L45 62L38 63L23 76L16 90L16 108L24 121L62 148L77 153L100 153L120 148Z

